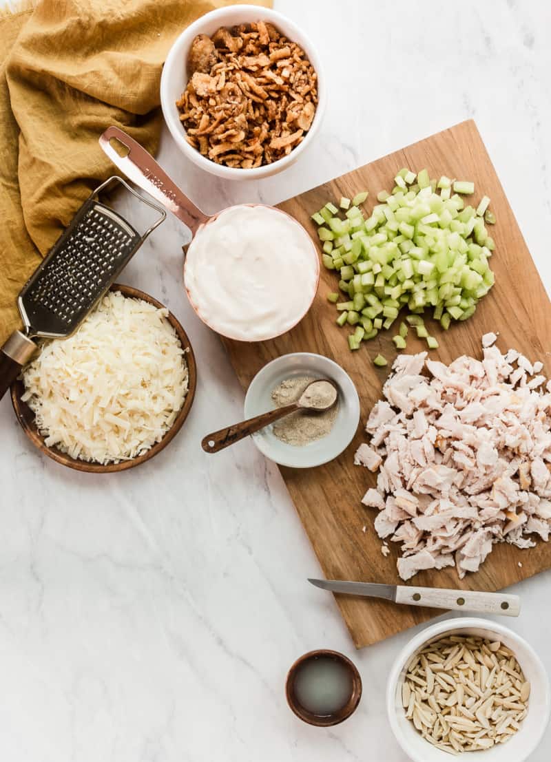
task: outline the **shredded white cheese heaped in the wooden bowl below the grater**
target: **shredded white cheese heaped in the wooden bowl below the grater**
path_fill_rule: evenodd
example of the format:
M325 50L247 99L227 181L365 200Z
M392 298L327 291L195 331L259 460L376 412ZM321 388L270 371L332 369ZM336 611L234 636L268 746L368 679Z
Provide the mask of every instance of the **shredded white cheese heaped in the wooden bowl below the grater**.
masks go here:
M168 310L110 292L70 338L44 342L21 399L73 458L110 463L159 442L187 394L187 364Z

